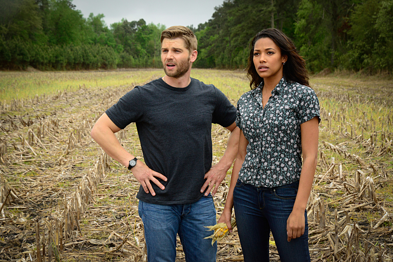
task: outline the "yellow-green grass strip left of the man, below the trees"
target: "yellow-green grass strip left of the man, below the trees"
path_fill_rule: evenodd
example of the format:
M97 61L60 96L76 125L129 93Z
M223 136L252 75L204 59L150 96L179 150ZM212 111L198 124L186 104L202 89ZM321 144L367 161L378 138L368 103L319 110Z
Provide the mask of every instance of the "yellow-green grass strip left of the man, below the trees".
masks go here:
M163 76L162 70L132 71L65 71L65 72L0 72L0 101L32 99L81 87L126 86Z

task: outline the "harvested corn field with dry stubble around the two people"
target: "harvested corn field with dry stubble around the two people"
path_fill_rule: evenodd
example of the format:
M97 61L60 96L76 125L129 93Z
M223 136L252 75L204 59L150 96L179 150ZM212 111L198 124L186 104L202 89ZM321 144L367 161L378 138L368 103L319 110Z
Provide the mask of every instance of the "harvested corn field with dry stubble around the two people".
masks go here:
M163 75L0 72L0 262L146 261L139 184L89 133L128 90ZM192 77L233 104L249 90L244 72L193 69ZM311 261L392 262L393 84L314 77L311 86L322 119L307 208ZM134 124L116 135L143 159ZM228 132L214 125L212 136L216 162ZM230 171L214 197L218 216ZM280 261L273 237L270 247ZM177 261L185 261L180 240ZM236 228L219 240L217 261L243 261Z

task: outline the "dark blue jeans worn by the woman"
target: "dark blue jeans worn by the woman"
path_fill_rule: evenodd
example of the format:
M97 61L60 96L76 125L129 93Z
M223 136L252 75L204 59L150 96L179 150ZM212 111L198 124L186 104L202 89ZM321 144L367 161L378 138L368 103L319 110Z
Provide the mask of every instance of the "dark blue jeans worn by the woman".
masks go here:
M233 205L245 262L269 261L270 231L281 262L310 261L306 210L304 235L290 242L286 235L286 220L292 212L298 187L299 182L270 188L237 181Z

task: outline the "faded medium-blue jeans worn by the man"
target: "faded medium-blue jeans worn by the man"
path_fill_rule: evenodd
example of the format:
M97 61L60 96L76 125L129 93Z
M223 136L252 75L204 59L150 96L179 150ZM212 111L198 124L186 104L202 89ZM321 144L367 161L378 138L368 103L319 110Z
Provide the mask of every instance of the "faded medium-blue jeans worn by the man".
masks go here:
M203 196L195 203L156 205L139 201L144 226L148 262L174 262L176 234L187 262L215 262L217 243L203 239L213 234L205 226L217 223L213 197Z

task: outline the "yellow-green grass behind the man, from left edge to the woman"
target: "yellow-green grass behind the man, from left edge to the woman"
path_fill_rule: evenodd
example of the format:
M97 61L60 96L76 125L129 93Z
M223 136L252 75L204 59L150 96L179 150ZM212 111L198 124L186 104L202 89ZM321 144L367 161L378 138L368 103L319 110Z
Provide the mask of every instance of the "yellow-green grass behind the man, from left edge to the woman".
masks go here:
M0 102L36 99L37 96L72 92L79 88L134 86L164 76L162 69L130 71L0 72ZM236 100L250 90L242 71L193 69L192 78L213 83L230 99Z

